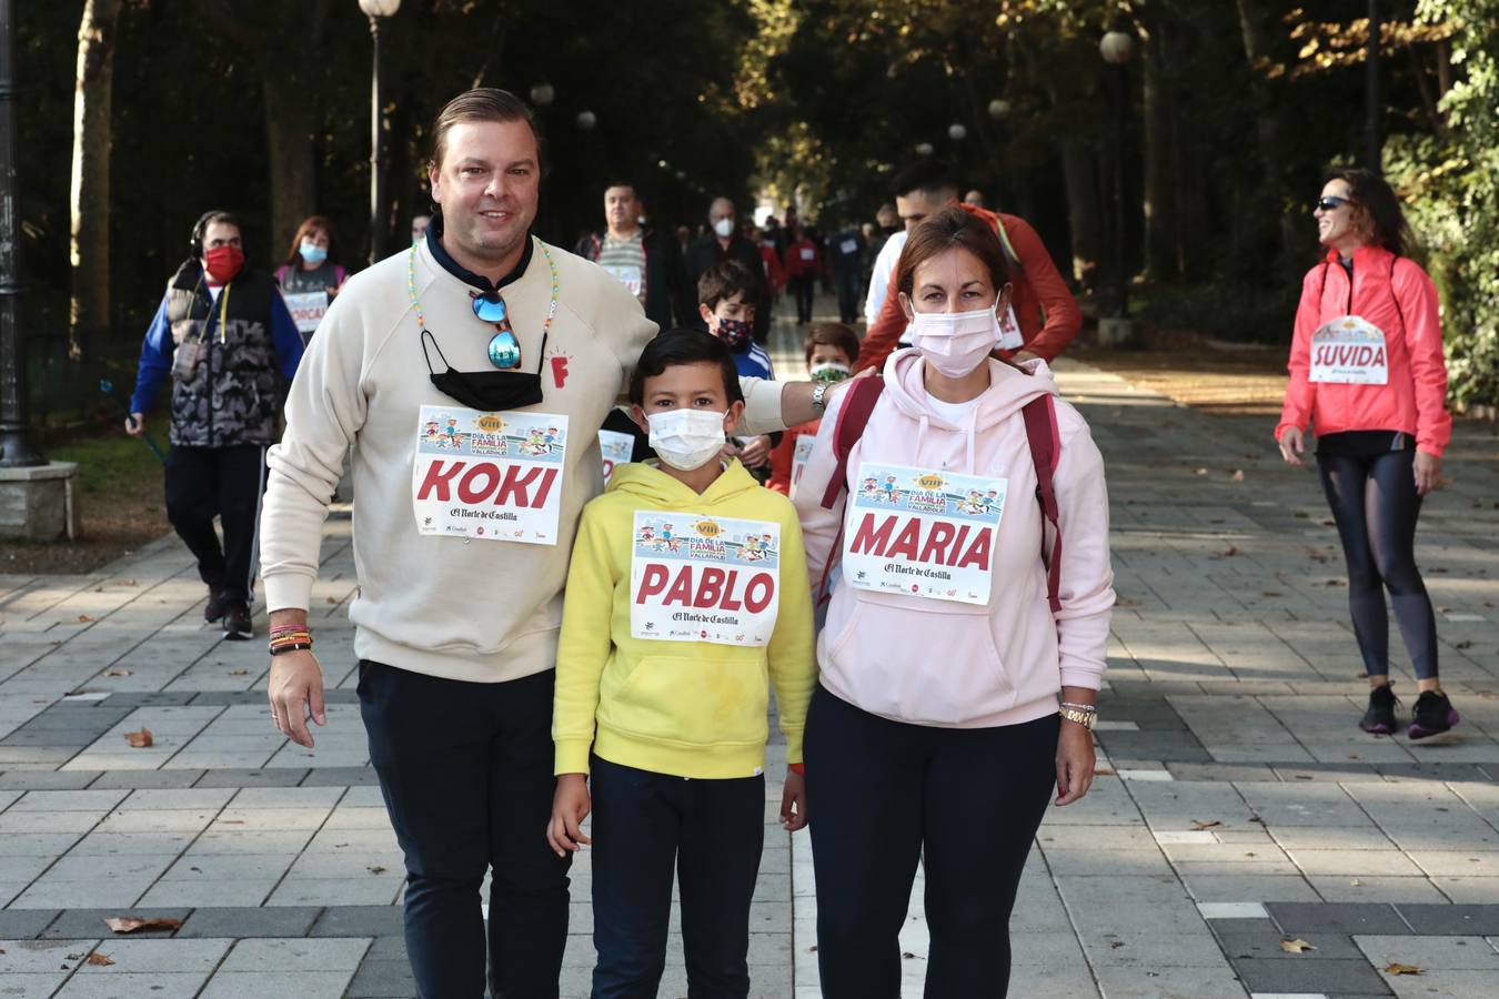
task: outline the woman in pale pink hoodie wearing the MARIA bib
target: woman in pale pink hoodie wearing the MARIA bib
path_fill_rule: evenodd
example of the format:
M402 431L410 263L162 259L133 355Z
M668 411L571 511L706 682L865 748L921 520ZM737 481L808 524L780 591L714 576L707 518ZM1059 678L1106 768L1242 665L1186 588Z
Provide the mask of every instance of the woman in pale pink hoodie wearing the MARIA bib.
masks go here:
M923 857L926 995L988 998L1009 983L1010 908L1051 789L1070 804L1093 780L1108 494L1046 364L989 356L1010 291L994 231L959 210L931 216L895 282L916 346L886 361L845 461L835 442L853 392L829 406L796 500L814 592L836 583L805 737L817 957L827 999L898 996ZM1022 415L1039 397L1060 440L1055 604Z

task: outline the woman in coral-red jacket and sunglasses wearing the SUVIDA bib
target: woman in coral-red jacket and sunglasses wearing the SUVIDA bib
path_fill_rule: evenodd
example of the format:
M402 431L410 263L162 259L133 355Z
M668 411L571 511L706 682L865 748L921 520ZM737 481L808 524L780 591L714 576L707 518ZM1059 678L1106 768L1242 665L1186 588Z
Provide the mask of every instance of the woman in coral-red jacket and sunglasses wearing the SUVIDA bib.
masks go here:
M1453 433L1436 289L1405 255L1400 202L1375 174L1330 174L1312 214L1327 259L1301 283L1276 439L1282 457L1300 466L1307 421L1316 428L1322 488L1348 560L1354 635L1373 687L1360 728L1397 728L1388 589L1420 690L1408 732L1426 738L1459 720L1436 675L1436 617L1415 565L1421 497L1438 487Z

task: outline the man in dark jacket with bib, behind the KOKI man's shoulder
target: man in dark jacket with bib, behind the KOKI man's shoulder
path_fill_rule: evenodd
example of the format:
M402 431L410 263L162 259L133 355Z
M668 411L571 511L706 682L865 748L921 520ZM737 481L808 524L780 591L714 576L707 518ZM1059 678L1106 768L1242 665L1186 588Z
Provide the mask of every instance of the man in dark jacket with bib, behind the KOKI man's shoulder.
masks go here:
M675 234L646 229L636 187L621 181L604 190L604 232L577 244L577 255L594 261L628 288L646 310L646 318L670 330L697 318L696 300L682 249Z

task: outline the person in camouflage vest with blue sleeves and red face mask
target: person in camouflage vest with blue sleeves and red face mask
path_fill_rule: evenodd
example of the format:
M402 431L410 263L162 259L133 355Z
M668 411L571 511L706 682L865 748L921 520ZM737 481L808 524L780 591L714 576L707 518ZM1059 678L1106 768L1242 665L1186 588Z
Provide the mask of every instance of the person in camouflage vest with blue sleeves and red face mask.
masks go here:
M172 377L166 518L198 559L208 586L207 622L226 638L252 635L255 526L265 487L265 448L303 340L276 280L246 267L240 223L210 211L192 234L192 256L166 283L145 331L126 433ZM213 518L223 526L223 545Z

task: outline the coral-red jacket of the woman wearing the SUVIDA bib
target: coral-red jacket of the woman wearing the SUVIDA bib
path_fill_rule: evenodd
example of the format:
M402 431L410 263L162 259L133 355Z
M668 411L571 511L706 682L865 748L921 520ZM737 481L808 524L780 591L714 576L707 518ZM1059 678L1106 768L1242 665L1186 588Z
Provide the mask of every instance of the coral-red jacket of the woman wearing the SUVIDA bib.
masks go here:
M1339 316L1363 316L1385 334L1385 385L1312 382L1312 334ZM1378 246L1354 250L1354 274L1337 250L1307 271L1301 282L1295 334L1291 341L1291 385L1276 425L1276 440L1288 427L1319 436L1345 430L1399 430L1414 434L1417 448L1441 457L1453 436L1447 412L1447 362L1436 288L1421 265Z

